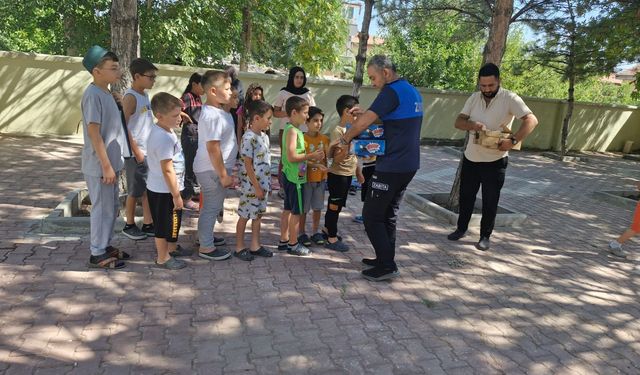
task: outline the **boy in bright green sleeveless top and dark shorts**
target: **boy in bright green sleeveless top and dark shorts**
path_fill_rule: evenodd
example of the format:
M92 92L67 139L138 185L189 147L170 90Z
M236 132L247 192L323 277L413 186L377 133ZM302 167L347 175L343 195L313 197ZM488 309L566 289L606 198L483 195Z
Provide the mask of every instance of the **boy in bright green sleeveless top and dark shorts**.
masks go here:
M292 96L285 104L289 122L282 136L282 174L284 190L284 210L280 215L280 243L278 250L287 250L292 255L310 255L311 251L298 242L298 226L303 208L302 185L307 182L307 161L322 160L324 151L316 150L307 154L304 135L300 126L307 121L309 102Z

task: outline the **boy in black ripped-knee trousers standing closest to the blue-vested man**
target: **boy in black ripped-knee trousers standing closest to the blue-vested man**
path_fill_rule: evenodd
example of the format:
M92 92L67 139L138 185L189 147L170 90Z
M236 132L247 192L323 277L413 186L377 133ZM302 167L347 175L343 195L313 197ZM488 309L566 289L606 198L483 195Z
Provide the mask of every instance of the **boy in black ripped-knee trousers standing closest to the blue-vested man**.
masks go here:
M346 125L353 123L354 116L350 109L358 104L358 99L351 95L342 95L336 102L336 110L340 115L340 123L331 131L331 142L342 138L346 132ZM329 201L327 203L327 213L324 216L324 225L327 230L326 248L335 251L348 251L349 246L338 237L338 216L340 211L347 204L349 187L351 180L356 175L358 182L363 183L364 177L358 167L358 158L348 150L334 147L329 151L333 157L333 163L329 168L327 184L329 185Z

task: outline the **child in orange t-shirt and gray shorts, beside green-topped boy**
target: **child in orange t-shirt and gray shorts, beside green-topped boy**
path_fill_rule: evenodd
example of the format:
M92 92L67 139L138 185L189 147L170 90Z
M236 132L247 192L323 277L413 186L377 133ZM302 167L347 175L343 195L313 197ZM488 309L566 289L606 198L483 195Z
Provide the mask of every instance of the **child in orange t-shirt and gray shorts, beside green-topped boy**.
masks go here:
M309 107L309 119L307 120L307 132L304 134L304 143L307 154L316 150L325 151L329 148L329 137L320 133L324 113L318 107ZM307 162L307 182L304 184L304 212L300 215L300 233L298 241L305 246L324 245L324 236L320 233L320 216L324 208L324 188L327 181L327 157L317 162ZM313 222L311 226L311 238L306 233L307 212L313 210Z

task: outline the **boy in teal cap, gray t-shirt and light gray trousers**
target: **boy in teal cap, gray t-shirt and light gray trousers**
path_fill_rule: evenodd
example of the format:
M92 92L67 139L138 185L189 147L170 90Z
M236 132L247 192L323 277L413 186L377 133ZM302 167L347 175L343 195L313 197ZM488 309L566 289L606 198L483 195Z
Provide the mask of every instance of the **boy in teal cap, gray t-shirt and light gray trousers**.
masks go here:
M99 46L89 49L82 65L93 76L93 82L82 96L84 147L82 173L91 198L92 268L122 268L129 254L110 245L120 208L118 174L124 166L122 158L126 138L120 111L109 91L109 85L120 79L118 57ZM126 146L125 146L126 147Z

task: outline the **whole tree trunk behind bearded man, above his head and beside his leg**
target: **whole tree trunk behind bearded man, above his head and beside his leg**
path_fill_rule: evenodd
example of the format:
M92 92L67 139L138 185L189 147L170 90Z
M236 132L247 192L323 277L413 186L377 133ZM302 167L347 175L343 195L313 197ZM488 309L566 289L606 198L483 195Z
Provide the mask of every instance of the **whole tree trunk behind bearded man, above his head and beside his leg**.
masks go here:
M496 1L491 12L489 38L482 51L482 65L490 62L500 66L502 63L502 56L507 46L507 36L509 35L509 25L512 14L513 0ZM467 143L469 143L469 132L465 134L463 150L467 147ZM460 201L460 176L462 174L463 158L464 157L461 157L458 163L458 169L456 170L451 192L449 193L449 199L447 200L447 208L454 212L458 210Z

